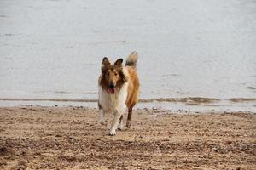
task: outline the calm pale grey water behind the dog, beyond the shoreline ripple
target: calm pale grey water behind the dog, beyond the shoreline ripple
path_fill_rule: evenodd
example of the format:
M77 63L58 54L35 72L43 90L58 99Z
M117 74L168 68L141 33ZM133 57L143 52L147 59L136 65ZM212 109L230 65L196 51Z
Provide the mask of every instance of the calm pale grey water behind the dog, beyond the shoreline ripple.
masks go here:
M255 11L253 0L2 0L0 98L96 99L102 58L136 50L141 99L254 99L235 105L255 111Z

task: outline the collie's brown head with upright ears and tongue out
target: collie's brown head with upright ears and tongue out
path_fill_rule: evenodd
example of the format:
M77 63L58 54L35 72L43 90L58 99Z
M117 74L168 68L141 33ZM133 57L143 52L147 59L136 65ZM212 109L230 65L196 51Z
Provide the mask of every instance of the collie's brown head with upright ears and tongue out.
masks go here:
M117 59L112 65L108 58L102 59L102 83L108 88L108 92L114 94L117 88L120 88L124 82L127 82L127 77L123 72L123 59Z

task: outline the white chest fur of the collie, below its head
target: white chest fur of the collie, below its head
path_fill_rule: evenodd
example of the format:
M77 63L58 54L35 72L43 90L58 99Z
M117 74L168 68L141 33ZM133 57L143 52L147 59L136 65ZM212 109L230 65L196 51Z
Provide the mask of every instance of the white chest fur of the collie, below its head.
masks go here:
M110 94L99 86L99 103L106 112L124 111L128 94L128 82L122 88L117 89L114 94Z

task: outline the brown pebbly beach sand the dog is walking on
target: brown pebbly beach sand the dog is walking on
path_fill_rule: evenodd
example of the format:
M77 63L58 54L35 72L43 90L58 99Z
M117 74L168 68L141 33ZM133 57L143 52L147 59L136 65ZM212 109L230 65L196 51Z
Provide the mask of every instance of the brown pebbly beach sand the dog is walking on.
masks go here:
M97 110L1 107L1 169L256 169L256 115L137 109L108 136Z

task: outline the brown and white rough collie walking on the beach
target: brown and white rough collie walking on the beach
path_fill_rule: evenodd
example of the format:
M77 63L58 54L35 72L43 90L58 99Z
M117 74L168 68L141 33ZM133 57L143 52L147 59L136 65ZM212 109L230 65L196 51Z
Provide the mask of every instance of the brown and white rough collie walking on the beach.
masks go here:
M116 129L123 128L123 113L127 106L128 117L126 127L131 127L132 108L137 104L139 80L136 72L137 53L132 52L126 59L117 59L111 64L107 57L102 60L102 74L99 77L100 123L105 124L105 113L113 113L113 122L109 135L115 135Z

